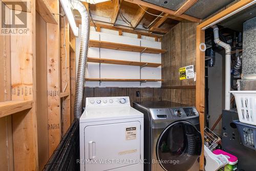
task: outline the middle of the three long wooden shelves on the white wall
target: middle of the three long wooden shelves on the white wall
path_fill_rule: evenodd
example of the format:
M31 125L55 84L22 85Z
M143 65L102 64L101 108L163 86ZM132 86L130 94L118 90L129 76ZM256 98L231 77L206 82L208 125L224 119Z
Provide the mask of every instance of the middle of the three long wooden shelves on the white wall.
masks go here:
M122 60L111 60L102 58L88 58L87 62L93 63L104 63L104 64L117 64L117 65L132 65L132 66L143 66L143 67L159 67L161 64L147 63L147 62L135 62L135 61L122 61Z

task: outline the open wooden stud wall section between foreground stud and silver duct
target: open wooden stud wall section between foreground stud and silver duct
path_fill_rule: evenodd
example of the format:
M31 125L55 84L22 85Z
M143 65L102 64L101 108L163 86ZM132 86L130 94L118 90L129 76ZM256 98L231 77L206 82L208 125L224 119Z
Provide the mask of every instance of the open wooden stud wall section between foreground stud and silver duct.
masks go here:
M50 11L54 13L62 11L58 0L49 0L48 4ZM75 36L69 27L67 17L56 15L58 24L52 24L41 15L39 12L36 15L39 170L44 168L71 124L75 85L75 51L70 49L70 46L75 47Z

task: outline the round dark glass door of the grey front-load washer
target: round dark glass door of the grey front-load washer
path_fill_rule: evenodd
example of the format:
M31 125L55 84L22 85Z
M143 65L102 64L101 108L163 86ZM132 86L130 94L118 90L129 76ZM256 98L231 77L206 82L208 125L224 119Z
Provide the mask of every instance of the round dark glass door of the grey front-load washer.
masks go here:
M159 136L157 162L167 171L185 171L194 165L201 150L202 137L197 128L187 121L175 122Z

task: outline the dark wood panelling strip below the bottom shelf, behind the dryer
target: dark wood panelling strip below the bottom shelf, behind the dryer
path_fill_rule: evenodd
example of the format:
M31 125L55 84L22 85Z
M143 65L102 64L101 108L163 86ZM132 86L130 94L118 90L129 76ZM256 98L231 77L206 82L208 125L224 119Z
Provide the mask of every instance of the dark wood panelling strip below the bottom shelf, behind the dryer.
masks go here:
M140 96L136 96L136 91L139 91ZM83 107L86 106L86 98L89 97L118 97L129 96L130 103L159 101L161 98L161 88L119 88L119 87L86 87L84 88Z

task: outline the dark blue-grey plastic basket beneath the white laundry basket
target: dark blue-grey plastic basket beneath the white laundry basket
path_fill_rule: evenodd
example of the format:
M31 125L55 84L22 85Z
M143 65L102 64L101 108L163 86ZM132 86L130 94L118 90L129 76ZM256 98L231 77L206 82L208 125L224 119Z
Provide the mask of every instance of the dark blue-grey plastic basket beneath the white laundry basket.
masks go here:
M243 145L256 150L256 126L241 123L239 120L233 123L237 125Z

